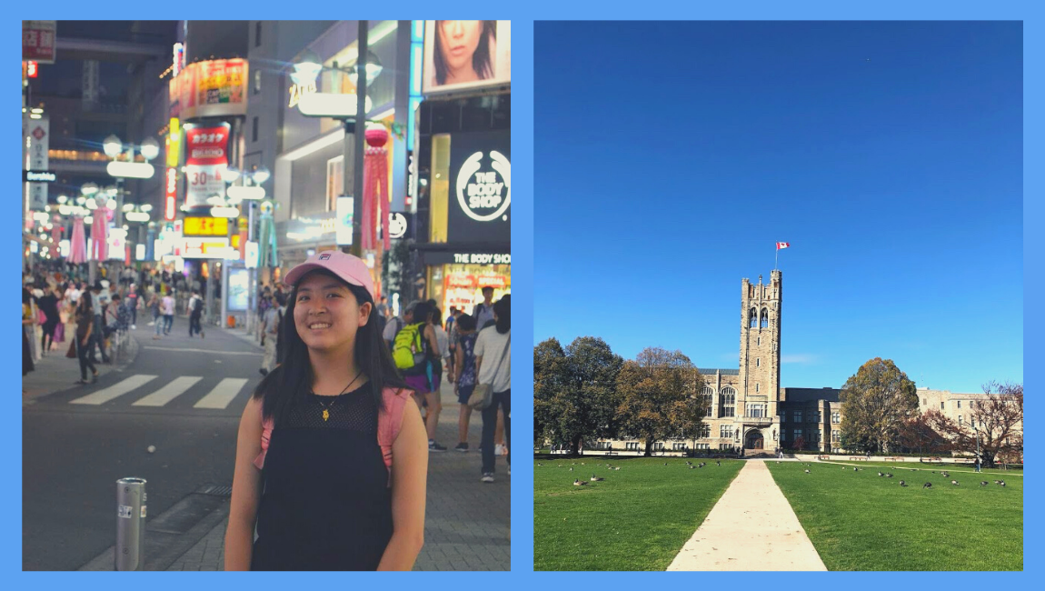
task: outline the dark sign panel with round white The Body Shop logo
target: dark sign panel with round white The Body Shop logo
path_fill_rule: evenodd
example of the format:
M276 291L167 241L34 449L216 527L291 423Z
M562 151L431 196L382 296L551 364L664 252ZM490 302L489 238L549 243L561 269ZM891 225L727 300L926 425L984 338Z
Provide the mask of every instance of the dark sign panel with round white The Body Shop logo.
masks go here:
M454 241L511 242L511 133L450 137L450 204L447 233Z

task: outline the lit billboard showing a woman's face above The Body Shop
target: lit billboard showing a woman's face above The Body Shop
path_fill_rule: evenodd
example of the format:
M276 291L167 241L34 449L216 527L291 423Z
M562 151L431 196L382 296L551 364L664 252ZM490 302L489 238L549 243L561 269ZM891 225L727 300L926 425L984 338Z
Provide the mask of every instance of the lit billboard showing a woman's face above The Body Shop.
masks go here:
M511 21L425 21L424 94L511 83Z

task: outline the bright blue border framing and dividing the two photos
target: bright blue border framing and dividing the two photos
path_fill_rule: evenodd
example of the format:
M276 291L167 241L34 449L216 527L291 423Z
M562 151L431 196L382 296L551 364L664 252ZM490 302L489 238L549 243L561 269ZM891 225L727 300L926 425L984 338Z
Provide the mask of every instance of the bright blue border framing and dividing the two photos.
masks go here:
M566 19L566 20L628 20L628 19L667 19L667 20L1022 20L1024 21L1024 180L1025 195L1030 196L1024 200L1024 297L1031 294L1045 293L1045 286L1042 280L1043 260L1045 260L1045 237L1040 229L1043 215L1042 204L1042 69L1041 56L1043 55L1043 27L1041 26L1042 2L1031 2L1029 0L1012 2L977 2L972 0L963 1L897 1L877 0L857 4L853 2L839 2L830 0L800 1L792 0L782 2L779 0L761 1L738 1L738 2L672 2L672 1L647 1L643 3L601 1L594 2L578 1L573 3L560 1L537 0L519 3L498 3L491 4L488 1L480 2L474 0L455 1L452 4L434 4L431 1L421 0L399 0L394 6L366 6L365 12L369 18L399 18L399 19L434 19L455 17L471 17L493 19L511 19L513 36L513 128L514 137L512 143L513 164L515 168L515 186L513 194L514 219L512 221L512 244L513 258L513 299L515 308L515 333L516 342L532 343L533 326L530 318L533 315L533 281L534 260L533 260L533 203L534 203L534 176L533 176L533 25L535 19ZM250 14L243 8L250 7ZM186 0L175 4L167 3L144 3L144 2L109 2L109 3L84 3L72 0L52 0L44 5L27 5L18 3L9 9L19 13L20 19L64 19L64 20L91 20L91 19L169 19L173 18L194 18L206 19L309 19L309 18L339 18L354 17L361 15L352 14L359 9L358 5L316 3L309 5L306 10L301 10L300 5L285 2L275 2L273 0L258 0L250 4L214 4L213 2L202 2L199 0ZM33 9L36 8L36 9ZM449 13L449 14L447 14ZM15 54L21 52L17 41L21 38L15 27L19 26L16 21L8 21L10 27L8 33L2 36L3 54L9 55L9 72L14 76L17 71L15 65ZM627 37L622 37L622 43L633 43L635 41ZM19 58L20 59L20 58ZM14 77L10 78L11 92L3 96L6 104L7 113L11 115L0 119L0 128L3 134L0 137L9 138L7 142L0 146L0 154L6 155L5 160L14 163L20 159L18 144L14 138L18 137L16 131L20 121L15 117L17 109L21 107L19 98L14 94ZM594 97L598 99L598 97ZM20 129L20 128L19 128ZM1037 169L1036 169L1037 166ZM14 167L14 164L11 164ZM17 200L14 196L20 195L21 184L15 184L15 177L8 177L6 186L11 192L9 211L15 212ZM20 181L19 181L20 183ZM19 220L19 218L15 218ZM0 252L15 253L21 248L21 244L16 244L20 229L16 227L18 222L10 221L10 233L0 234L0 243L8 244L10 250L2 249ZM976 240L975 236L967 236L967 240ZM19 262L19 263L16 263ZM20 258L16 259L0 257L0 276L20 276ZM1037 274L1035 273L1037 271ZM975 277L955 278L956 282L965 289L984 289L975 281ZM1005 289L1005 286L989 287L988 289ZM0 292L0 298L11 300L8 302L10 309L17 308L14 302L15 290L11 292ZM20 356L20 351L15 348L14 319L11 319L11 337L5 341L9 343L3 348L7 355L0 357L3 366L8 368L4 374L14 376L15 365ZM1042 327L1041 316L1030 316L1024 319L1025 333L1032 335L1040 334ZM1030 328L1027 331L1027 328ZM1038 328L1038 331L1034 329ZM1026 339L1025 339L1026 341ZM1042 344L1038 340L1025 342L1025 359L1042 360ZM512 365L515 376L513 382L516 384L515 392L515 416L512 447L516 450L525 451L530 449L530 432L533 425L532 405L528 401L532 396L533 383L533 357L530 346L518 346L513 353ZM1024 385L1030 392L1036 389L1036 384L1042 383L1043 363L1025 364L1026 376ZM1038 408L1038 399L1034 395L1030 399L1031 414L1032 409ZM10 471L21 474L21 420L17 412L17 400L13 393L6 396L5 405L10 407L11 412L4 415L4 429L2 430L2 440L4 449L10 450L9 455L16 461L10 462L15 468ZM1030 439L1035 449L1041 446L1034 438ZM1032 455L1032 454L1030 454ZM411 573L402 576L414 577L410 582L419 583L419 578L426 577L424 584L429 591L439 589L454 589L457 591L463 586L491 585L501 590L505 589L528 589L535 585L581 585L598 586L617 589L634 589L638 585L649 584L647 577L657 576L646 573L533 573L533 472L532 462L526 459L527 454L522 454L521 463L516 462L516 471L512 476L512 565L513 573L450 573L450 574L419 574ZM20 478L20 477L19 477ZM1036 473L1027 476L1032 481L1039 481L1040 476ZM478 483L477 483L478 484ZM20 491L13 486L3 490L0 495L6 501L6 506L11 508L10 519L4 528L2 547L0 547L0 561L3 564L3 572L14 573L21 571L21 539L22 533L21 512L17 507L21 506ZM960 510L960 507L955 507ZM1025 516L1025 531L1031 532L1029 540L1025 539L1024 553L1034 555L1034 550L1040 548L1040 529L1036 527L1041 522L1041 509L1031 504ZM955 535L960 535L955 531ZM1026 538L1026 536L1025 536ZM597 543L597 532L593 532L593 543ZM946 543L946 540L940 540ZM1029 550L1029 551L1028 551ZM990 549L984 549L990 551ZM1025 563L1028 571L1040 570L1037 564ZM17 577L7 577L8 581L19 588L28 585L50 587L68 587L76 585L86 589L108 589L114 584L127 584L130 581L119 578L116 573L94 573L77 576L73 573L23 573ZM148 589L179 589L184 587L188 581L182 576L192 575L171 575L168 573L139 573L134 576L133 585L147 587ZM204 585L218 585L215 577L222 576L214 573L201 573L192 576L192 583ZM388 585L387 579L369 578L380 577L375 573L361 573L345 575L340 573L271 573L265 575L248 574L247 584L252 588L277 588L285 587L287 584L344 584L350 577L350 583L370 583ZM661 577L686 576L683 574L664 574ZM835 585L844 584L854 589L877 587L882 583L891 584L915 584L930 585L932 587L982 587L996 585L1012 585L1014 583L1024 583L1022 573L833 573L833 574L775 574L775 573L704 573L700 579L694 578L695 586L702 585L728 585L744 583L747 585L758 584L800 584L810 582L814 577L831 577ZM901 578L902 577L902 578ZM999 579L1003 577L1003 579ZM1018 577L1019 581L1014 579ZM916 579L916 581L915 581ZM825 582L823 578L819 579ZM399 584L407 581L397 582ZM680 581L667 581L658 578L655 584L678 584ZM237 582L237 585L241 582Z

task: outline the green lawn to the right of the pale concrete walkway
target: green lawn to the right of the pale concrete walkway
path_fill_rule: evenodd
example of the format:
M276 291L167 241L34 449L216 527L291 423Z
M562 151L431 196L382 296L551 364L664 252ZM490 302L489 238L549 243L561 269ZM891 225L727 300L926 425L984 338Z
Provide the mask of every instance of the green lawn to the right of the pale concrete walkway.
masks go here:
M828 570L1023 570L1021 476L808 463L768 465Z

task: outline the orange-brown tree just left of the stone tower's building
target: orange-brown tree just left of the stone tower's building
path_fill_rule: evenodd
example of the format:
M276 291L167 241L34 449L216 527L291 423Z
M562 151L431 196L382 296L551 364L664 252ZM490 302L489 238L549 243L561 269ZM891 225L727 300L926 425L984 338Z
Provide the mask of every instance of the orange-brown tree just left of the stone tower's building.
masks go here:
M643 439L648 456L657 439L696 432L704 415L701 387L700 372L681 351L643 349L617 379L621 433Z

